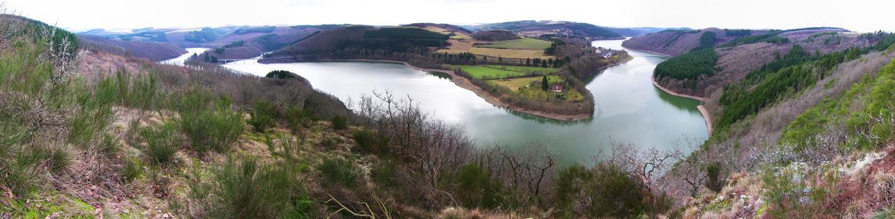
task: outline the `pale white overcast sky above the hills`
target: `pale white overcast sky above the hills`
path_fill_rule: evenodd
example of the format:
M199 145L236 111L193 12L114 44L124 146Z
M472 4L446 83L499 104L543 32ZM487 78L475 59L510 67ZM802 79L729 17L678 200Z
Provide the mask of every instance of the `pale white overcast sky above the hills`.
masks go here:
M4 2L4 0L0 0ZM580 21L611 27L895 31L890 0L5 0L72 29Z

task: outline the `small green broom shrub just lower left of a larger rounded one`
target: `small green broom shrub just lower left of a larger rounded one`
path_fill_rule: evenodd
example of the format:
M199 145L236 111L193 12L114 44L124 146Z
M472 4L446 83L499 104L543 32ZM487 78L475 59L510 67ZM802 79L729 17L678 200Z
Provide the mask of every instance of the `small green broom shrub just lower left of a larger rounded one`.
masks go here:
M152 164L166 164L183 146L183 139L173 122L165 122L160 127L142 128L140 135L147 143L143 152Z

